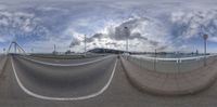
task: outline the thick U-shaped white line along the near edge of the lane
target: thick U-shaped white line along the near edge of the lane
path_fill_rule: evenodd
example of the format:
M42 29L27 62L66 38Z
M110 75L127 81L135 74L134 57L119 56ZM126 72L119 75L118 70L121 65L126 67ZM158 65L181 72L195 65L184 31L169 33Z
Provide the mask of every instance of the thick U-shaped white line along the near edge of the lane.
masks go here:
M111 84L112 82L112 79L114 77L114 73L115 73L115 69L116 69L116 65L117 65L117 59L115 62L115 65L114 65L114 68L113 68L113 71L112 71L112 75L110 77L110 80L107 81L107 83L99 91L99 92L95 92L95 93L92 93L92 94L89 94L89 95L86 95L86 96L79 96L79 97L50 97L50 96L44 96L44 95L39 95L39 94L36 94L31 91L29 91L28 89L26 89L21 80L18 79L18 76L16 73L16 70L15 70L15 67L14 67L14 64L13 64L13 59L11 57L11 62L12 62L12 68L13 68L13 72L14 72L14 76L16 78L16 81L20 85L20 88L28 95L30 96L34 96L34 97L37 97L37 98L40 98L40 99L48 99L48 101L80 101L80 99L88 99L88 98L92 98L92 97L95 97L100 94L102 94Z

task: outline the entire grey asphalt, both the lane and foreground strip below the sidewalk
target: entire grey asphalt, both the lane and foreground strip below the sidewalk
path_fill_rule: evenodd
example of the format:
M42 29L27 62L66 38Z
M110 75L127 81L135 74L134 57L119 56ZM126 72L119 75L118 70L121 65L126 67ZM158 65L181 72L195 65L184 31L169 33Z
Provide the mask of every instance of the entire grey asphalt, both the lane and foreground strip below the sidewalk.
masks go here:
M100 92L108 82L115 62L116 57L111 56L99 63L77 68L66 67L63 70L61 67L13 57L14 68L23 85L35 94L50 97L79 97ZM84 85L75 82L77 79ZM107 89L86 99L55 101L29 95L17 83L11 59L0 76L0 107L215 107L216 99L217 83L193 95L158 96L140 92L128 82L119 61Z

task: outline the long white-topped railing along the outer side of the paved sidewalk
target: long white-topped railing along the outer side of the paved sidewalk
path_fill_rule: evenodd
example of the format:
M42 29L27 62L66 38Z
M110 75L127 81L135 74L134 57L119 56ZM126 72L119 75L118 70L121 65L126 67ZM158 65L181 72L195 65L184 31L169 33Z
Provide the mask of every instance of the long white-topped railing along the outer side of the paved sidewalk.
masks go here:
M184 72L204 67L204 63L212 64L217 59L217 55L181 57L181 58L159 58L144 56L124 56L125 59L148 70L159 72Z

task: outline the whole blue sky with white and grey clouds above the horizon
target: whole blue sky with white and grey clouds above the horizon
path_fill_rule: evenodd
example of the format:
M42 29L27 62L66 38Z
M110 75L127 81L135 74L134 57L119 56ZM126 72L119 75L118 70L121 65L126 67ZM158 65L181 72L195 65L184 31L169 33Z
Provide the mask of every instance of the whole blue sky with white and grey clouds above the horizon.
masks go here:
M16 41L26 52L107 48L217 52L215 0L1 0L0 52ZM125 28L127 27L127 29Z

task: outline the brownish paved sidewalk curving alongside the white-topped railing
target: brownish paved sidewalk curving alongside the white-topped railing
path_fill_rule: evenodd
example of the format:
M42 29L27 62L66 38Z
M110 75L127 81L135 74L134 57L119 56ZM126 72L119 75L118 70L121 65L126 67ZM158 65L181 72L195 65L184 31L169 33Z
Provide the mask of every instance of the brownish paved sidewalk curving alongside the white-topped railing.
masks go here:
M122 64L131 84L152 94L193 94L209 88L217 78L217 62L194 71L177 73L149 71L123 57Z

